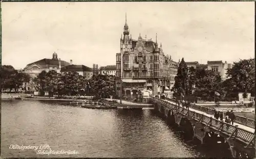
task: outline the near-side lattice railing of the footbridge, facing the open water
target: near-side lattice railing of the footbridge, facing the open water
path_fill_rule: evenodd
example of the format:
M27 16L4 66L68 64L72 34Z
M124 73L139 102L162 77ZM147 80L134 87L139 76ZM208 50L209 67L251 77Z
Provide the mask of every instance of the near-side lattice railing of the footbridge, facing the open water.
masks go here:
M188 116L193 119L197 119L199 122L204 123L206 126L214 128L217 131L221 131L222 133L224 133L228 136L232 136L232 135L236 134L236 136L235 136L236 139L240 140L241 142L243 142L247 145L251 144L254 147L255 134L251 133L250 131L247 131L247 130L244 130L237 126L214 119L212 117L208 117L206 115L187 110L181 106L169 103L169 102L164 101L159 98L152 97L152 99L155 101L158 101L161 104L164 104L165 107L167 107L173 111L177 111L185 116Z

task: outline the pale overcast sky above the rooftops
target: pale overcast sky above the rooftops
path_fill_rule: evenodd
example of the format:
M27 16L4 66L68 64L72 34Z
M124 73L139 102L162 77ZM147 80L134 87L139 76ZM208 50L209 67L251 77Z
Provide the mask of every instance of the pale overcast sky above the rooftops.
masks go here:
M44 58L92 67L115 65L125 23L162 43L175 61L254 58L254 2L2 3L2 65Z

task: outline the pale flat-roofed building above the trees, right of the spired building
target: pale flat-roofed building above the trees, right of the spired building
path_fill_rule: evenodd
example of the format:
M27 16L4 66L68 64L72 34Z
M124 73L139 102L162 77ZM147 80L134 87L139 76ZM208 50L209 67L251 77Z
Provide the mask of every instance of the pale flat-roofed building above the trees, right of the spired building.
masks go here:
M219 72L222 80L227 79L227 69L232 68L232 64L228 64L226 61L223 63L222 61L207 61L207 65L199 64L198 62L186 62L187 67L195 67L195 68L204 68L207 70L212 70L215 72Z

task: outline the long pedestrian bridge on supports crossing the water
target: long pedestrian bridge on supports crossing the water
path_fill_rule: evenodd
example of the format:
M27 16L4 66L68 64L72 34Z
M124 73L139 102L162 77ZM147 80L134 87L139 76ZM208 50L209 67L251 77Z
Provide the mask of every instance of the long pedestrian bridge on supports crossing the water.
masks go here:
M192 134L193 139L199 139L202 144L213 144L218 140L229 144L233 157L255 157L255 129L242 124L242 121L231 125L214 119L205 108L194 109L198 105L186 109L170 99L151 97L151 102L156 111L182 127L186 133Z

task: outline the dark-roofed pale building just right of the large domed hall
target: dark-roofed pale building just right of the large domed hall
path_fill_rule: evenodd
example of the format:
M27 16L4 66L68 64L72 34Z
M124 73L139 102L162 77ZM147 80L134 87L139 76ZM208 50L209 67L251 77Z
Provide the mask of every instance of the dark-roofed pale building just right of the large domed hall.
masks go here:
M84 76L87 80L89 80L93 76L93 69L84 65L71 65L62 67L60 72L71 72L76 71L79 75Z

